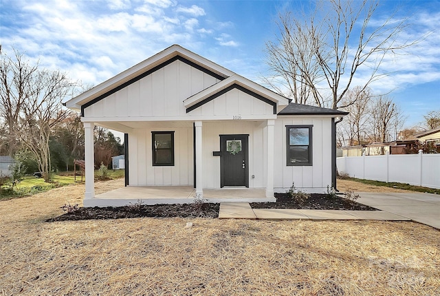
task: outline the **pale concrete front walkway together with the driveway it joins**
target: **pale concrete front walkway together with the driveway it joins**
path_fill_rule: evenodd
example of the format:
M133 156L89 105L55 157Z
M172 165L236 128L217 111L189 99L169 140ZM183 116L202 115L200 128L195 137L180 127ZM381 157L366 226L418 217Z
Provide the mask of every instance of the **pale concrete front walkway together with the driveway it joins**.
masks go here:
M357 200L382 211L252 209L248 202L221 202L220 219L415 221L440 229L440 196L429 193L359 193Z

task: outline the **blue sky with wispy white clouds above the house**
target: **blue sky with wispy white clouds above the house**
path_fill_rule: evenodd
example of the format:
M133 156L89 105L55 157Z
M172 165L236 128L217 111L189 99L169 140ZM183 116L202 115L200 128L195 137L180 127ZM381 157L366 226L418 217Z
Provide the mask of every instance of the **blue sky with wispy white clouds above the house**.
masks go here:
M408 38L431 32L404 56L390 56L372 85L407 116L406 127L440 110L440 1L382 1L375 19L399 8ZM278 12L314 1L0 0L2 52L12 47L43 67L97 85L175 43L250 78L267 74L265 42L274 40ZM362 81L362 75L357 78Z

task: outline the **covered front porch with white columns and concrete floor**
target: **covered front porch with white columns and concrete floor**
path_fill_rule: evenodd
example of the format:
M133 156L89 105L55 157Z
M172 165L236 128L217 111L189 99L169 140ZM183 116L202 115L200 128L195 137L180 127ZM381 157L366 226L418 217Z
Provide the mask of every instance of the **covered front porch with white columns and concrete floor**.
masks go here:
M86 191L85 207L106 207L134 204L141 200L143 204L179 204L193 202L195 196L207 202L267 202L274 201L274 120L182 120L182 121L137 121L119 122L102 121L96 123L84 122L85 125L85 163ZM119 129L125 133L126 145L126 187L109 193L95 195L94 192L94 126L100 125L111 129ZM124 127L124 128L122 128ZM184 130L182 133L180 130ZM168 167L151 167L152 131L173 130L175 134L176 163ZM232 133L249 134L250 142L257 142L256 147L250 145L250 160L245 164L252 171L245 171L248 178L246 186L221 187L220 160L216 152L220 148L220 134ZM179 136L180 133L180 136ZM177 139L181 135L188 135L184 144L180 145ZM144 136L142 138L141 136ZM264 136L263 136L264 135ZM136 138L137 137L137 138ZM131 141L129 142L129 139ZM142 146L140 145L142 144ZM129 152L130 147L131 152ZM179 147L177 149L177 147ZM182 151L184 152L182 153ZM197 151L199 151L197 153ZM194 154L192 154L194 152ZM218 153L218 152L217 152ZM146 154L146 155L144 155ZM187 157L187 158L186 158ZM188 167L179 167L177 159L184 159ZM182 161L180 161L182 162ZM197 169L196 169L197 167ZM240 165L241 167L241 165ZM244 167L244 165L243 165ZM265 169L267 168L267 169ZM148 176L160 176L167 171L167 176L175 176L172 170L186 173L188 182L183 184L148 184ZM192 171L194 169L194 171ZM140 178L140 173L146 176ZM159 171L159 173L155 173ZM169 173L169 171L172 171ZM87 173L89 176L87 176ZM148 175L149 174L149 175ZM148 176L147 176L148 175ZM164 173L165 175L165 173ZM192 178L193 175L193 178ZM254 177L255 176L255 177ZM181 178L182 179L182 178ZM214 181L212 181L214 180ZM142 184L146 182L146 184ZM219 184L217 184L217 182ZM167 184L168 183L168 184ZM250 183L250 184L249 184ZM221 187L221 188L219 188Z

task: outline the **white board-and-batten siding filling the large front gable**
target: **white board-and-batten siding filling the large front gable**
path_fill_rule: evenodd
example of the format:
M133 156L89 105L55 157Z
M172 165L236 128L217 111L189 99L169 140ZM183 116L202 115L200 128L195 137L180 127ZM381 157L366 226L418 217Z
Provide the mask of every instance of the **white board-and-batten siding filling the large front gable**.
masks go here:
M174 61L85 108L85 118L144 121L188 116L183 101L218 82L186 63Z

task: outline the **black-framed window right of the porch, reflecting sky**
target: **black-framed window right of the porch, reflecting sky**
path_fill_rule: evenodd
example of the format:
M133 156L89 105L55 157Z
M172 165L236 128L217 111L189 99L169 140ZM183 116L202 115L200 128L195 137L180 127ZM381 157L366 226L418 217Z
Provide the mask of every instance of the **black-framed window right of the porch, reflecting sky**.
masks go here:
M311 127L313 125L286 125L287 165L312 165Z

